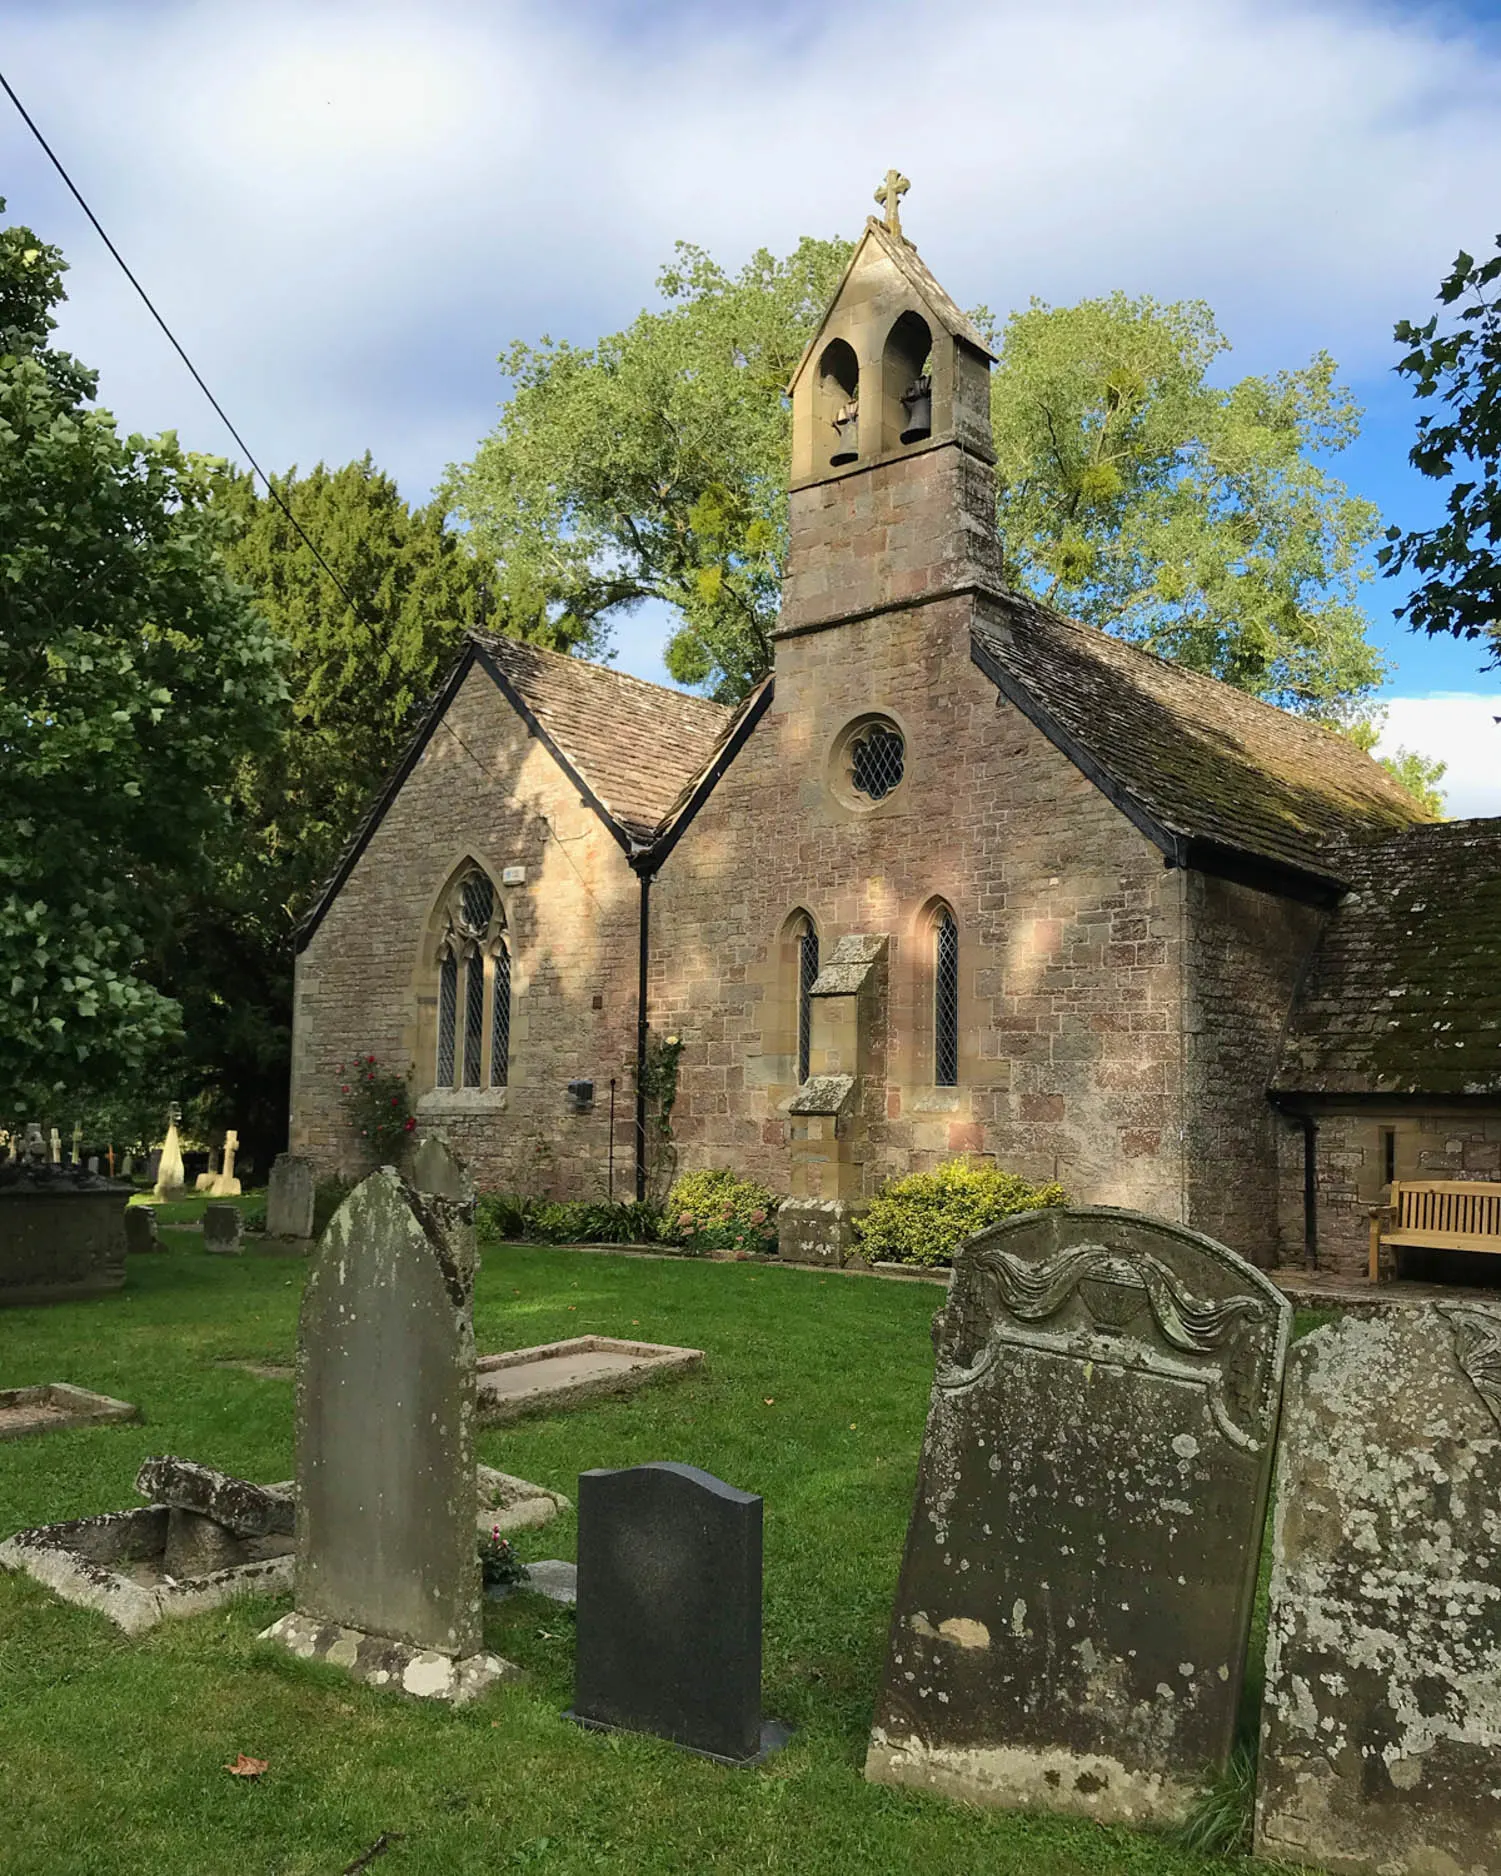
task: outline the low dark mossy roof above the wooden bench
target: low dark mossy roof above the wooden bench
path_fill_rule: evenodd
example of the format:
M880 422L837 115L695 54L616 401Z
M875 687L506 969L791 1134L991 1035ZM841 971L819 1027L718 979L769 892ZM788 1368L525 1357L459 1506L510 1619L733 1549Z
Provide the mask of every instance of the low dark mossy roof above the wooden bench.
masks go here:
M1501 1094L1501 818L1409 827L1345 874L1272 1086Z

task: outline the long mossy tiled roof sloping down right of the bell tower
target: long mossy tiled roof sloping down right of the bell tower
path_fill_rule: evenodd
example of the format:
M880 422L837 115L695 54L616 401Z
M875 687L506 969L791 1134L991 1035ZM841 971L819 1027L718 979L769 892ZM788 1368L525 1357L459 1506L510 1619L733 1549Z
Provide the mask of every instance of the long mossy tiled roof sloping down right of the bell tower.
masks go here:
M1336 846L1422 818L1347 737L1032 598L983 600L974 636L1036 720L1173 835L1340 880Z

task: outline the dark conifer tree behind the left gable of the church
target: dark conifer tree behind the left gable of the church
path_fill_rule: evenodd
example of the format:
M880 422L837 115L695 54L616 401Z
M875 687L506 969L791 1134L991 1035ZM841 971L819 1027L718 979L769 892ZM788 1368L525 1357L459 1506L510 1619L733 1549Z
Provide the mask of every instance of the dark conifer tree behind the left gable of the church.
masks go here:
M240 762L220 867L178 908L161 961L199 1116L236 1126L259 1165L285 1135L295 929L465 628L495 623L492 570L368 456L274 486L280 501L229 473L216 512L225 567L287 645L287 709L272 747Z

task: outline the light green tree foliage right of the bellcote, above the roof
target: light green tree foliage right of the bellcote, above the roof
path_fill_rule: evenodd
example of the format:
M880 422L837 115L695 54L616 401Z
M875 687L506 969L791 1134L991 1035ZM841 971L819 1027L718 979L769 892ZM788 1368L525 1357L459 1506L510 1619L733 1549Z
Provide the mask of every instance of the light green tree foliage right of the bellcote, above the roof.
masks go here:
M1315 458L1360 413L1317 353L1208 383L1201 300L1034 300L991 381L1008 578L1285 709L1345 722L1381 681L1357 589L1377 510Z

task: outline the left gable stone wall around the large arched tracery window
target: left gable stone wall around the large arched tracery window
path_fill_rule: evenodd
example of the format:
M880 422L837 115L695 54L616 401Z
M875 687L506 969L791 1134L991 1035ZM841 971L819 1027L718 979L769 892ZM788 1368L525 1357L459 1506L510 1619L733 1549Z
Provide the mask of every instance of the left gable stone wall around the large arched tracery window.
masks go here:
M632 1188L638 882L576 784L473 670L298 959L293 1152L321 1172L366 1167L338 1066L375 1054L413 1071L424 1131L443 1133L480 1188L542 1197L604 1191L610 1077L619 1082L615 1195ZM465 859L495 882L512 951L510 1077L432 1094L433 908ZM505 867L523 885L501 885ZM595 1082L593 1111L567 1084Z

